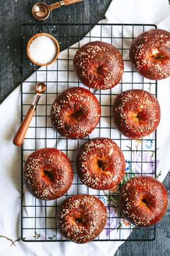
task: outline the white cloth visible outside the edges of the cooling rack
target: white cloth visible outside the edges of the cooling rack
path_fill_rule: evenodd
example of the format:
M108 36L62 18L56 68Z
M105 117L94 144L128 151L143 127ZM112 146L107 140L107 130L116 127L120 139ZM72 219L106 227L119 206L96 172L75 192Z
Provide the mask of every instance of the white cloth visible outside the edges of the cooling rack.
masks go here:
M153 23L158 27L169 30L168 0L114 0L106 13L107 22L112 23ZM170 123L169 116L170 87L169 79L158 82L158 101L161 105L161 123L158 127L158 169L164 180L170 168ZM16 88L6 100L1 103L0 116L0 235L8 236L13 240L18 239L20 234L20 149L12 145L15 129L20 118L20 87ZM0 239L1 255L79 255L83 252L87 255L114 255L122 242L91 242L89 244L64 243L35 243L16 242L16 247L10 247L10 242Z

